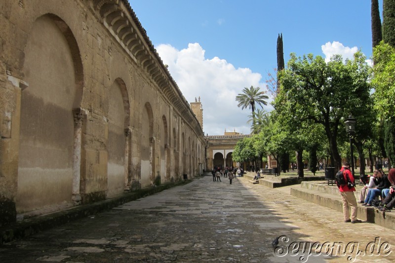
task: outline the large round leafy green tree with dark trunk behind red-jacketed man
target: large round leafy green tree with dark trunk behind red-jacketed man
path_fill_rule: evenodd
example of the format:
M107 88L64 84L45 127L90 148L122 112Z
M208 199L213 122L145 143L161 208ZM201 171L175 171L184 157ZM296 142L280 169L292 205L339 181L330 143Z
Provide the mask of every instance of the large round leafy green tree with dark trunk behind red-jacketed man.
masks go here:
M340 55L335 55L325 63L320 56L291 54L287 68L278 76L283 94L276 98L275 109L286 102L285 111L297 121L321 125L335 165L340 167L337 139L344 130L343 119L350 113L361 116L369 111L370 71L365 57L356 52L354 60L344 63Z

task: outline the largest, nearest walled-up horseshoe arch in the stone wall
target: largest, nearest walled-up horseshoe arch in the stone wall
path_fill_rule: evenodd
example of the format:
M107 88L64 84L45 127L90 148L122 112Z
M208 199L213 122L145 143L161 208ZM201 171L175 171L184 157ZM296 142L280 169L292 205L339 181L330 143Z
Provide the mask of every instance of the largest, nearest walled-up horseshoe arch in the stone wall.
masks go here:
M24 54L29 87L21 94L16 210L48 212L80 200L83 114L75 118L73 109L82 98L82 63L70 28L52 14L34 22Z

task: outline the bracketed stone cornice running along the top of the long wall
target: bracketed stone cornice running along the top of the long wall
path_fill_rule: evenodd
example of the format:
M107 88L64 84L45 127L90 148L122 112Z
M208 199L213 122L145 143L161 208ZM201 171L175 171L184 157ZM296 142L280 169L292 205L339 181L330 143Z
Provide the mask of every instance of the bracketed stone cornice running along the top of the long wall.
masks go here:
M203 137L197 117L164 66L129 2L127 0L93 0L93 6L119 44L150 75L163 95L179 113L183 114L197 135ZM186 109L188 111L185 111Z

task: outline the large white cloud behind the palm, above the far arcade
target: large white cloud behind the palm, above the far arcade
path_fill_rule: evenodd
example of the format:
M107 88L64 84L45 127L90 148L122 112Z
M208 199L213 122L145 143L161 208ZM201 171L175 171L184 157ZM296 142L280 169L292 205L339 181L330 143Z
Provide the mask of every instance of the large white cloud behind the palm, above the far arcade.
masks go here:
M200 96L203 107L203 131L208 135L223 135L227 131L250 133L246 124L251 110L237 107L236 95L244 87L259 86L262 75L247 68L236 69L224 59L207 59L198 43L177 50L168 44L157 46L158 54L184 97L194 102ZM269 103L269 102L268 102ZM266 111L271 108L267 107Z

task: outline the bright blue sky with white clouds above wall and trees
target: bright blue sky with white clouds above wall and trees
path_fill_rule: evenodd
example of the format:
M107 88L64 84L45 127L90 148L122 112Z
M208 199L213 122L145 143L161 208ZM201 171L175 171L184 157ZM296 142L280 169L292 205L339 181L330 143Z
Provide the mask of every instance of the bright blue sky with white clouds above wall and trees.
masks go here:
M265 90L276 40L291 52L371 56L370 0L129 0L185 98L201 98L203 131L249 134L244 87ZM379 0L380 13L383 0ZM270 107L264 110L270 111Z

